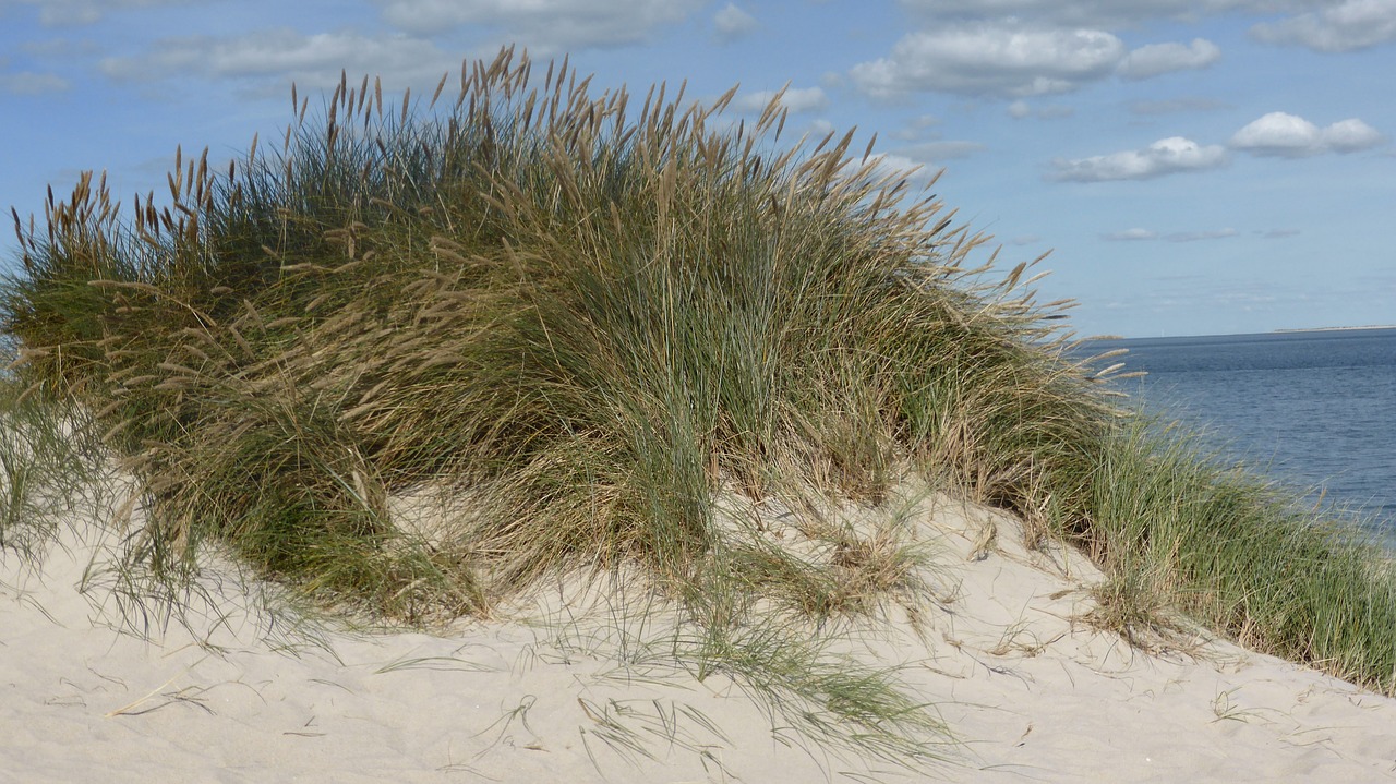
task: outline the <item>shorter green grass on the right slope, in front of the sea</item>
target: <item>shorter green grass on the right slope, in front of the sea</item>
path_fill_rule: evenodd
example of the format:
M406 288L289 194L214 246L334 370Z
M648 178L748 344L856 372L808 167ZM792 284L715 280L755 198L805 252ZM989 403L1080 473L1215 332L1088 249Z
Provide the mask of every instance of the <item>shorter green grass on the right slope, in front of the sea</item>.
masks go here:
M1396 692L1396 571L1357 518L1191 432L1121 427L1092 487L1107 625L1182 610L1242 644Z

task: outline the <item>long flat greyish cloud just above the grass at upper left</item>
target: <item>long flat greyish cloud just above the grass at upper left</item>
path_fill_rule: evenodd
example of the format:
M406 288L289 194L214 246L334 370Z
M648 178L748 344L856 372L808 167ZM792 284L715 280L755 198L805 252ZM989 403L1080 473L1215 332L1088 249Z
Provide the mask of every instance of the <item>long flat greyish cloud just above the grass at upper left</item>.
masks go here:
M268 80L275 85L296 81L327 88L349 74L383 77L388 85L436 82L459 68L429 40L405 35L364 36L356 32L302 35L269 29L236 38L166 38L137 57L107 57L99 63L112 78L155 81L176 75L204 78Z

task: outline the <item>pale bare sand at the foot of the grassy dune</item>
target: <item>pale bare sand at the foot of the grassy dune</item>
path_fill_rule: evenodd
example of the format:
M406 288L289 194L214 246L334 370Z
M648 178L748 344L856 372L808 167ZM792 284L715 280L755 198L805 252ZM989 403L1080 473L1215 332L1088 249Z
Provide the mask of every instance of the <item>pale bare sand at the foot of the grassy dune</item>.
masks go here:
M1081 621L1099 576L1079 557L1029 554L1015 520L944 498L914 523L949 601L921 636L895 622L860 639L959 738L930 774L839 759L642 647L621 665L606 594L544 594L551 624L290 651L228 579L226 624L140 640L102 621L102 589L80 593L99 536L78 526L40 573L0 555L0 781L1396 780L1396 700L1226 643L1132 650ZM995 544L973 559L987 525ZM627 629L660 639L663 618Z

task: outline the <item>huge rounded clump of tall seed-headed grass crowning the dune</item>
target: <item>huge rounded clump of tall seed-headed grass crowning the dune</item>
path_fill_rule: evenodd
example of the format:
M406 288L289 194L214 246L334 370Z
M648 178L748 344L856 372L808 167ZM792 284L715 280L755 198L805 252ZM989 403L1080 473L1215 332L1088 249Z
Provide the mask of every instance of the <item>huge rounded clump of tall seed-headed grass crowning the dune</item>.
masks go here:
M42 229L15 216L20 372L92 409L141 477L152 566L218 541L389 614L458 614L568 562L683 593L723 483L878 498L914 460L1033 512L1083 481L1060 444L1103 432L1103 406L1030 343L1012 282L959 285L983 237L852 134L773 152L779 102L730 128L732 92L660 85L635 114L532 70L468 66L424 113L342 81L279 155L177 156L172 206L121 222L84 176ZM410 541L387 498L433 481L477 513Z

